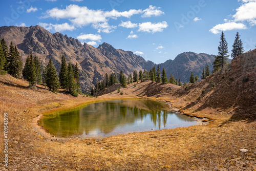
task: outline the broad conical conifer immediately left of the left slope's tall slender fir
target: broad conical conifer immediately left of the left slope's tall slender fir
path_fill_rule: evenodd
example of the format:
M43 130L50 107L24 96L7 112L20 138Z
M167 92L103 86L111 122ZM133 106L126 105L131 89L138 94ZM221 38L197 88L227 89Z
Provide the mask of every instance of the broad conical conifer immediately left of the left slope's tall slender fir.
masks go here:
M49 90L57 92L59 89L59 78L56 73L56 69L53 66L52 59L50 58L46 67L45 81Z

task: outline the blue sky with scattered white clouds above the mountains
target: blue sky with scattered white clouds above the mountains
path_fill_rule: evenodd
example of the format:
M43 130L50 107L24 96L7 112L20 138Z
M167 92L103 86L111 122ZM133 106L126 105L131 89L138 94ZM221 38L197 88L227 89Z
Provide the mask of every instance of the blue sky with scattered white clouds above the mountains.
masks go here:
M20 0L3 1L0 9L0 26L40 25L155 63L188 51L217 54L221 31L229 51L237 31L245 51L256 44L256 0Z

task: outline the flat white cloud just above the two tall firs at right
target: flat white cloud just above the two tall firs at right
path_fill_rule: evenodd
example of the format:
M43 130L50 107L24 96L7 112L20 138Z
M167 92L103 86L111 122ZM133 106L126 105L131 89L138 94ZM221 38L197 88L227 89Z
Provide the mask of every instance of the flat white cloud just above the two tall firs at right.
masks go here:
M214 34L218 34L221 31L228 31L228 30L234 30L234 29L237 29L237 30L246 29L246 26L243 23L229 22L229 23L216 25L209 31Z

